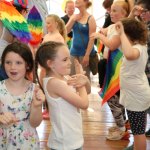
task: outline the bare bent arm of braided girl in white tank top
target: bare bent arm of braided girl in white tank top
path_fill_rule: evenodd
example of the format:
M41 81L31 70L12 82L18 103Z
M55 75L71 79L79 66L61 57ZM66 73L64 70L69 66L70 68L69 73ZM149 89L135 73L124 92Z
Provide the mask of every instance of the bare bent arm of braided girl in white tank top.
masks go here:
M53 88L52 88L53 87ZM62 89L65 89L62 90ZM77 88L79 95L64 81L53 78L47 84L48 93L54 97L62 97L77 108L87 109L89 102L85 87Z

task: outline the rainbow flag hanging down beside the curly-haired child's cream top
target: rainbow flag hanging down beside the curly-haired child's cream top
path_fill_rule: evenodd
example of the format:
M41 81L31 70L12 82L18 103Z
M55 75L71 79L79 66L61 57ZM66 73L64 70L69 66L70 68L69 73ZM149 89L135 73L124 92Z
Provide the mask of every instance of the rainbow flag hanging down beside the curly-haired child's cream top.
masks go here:
M122 56L123 54L119 49L109 51L104 85L99 92L102 98L102 105L120 90L119 76Z

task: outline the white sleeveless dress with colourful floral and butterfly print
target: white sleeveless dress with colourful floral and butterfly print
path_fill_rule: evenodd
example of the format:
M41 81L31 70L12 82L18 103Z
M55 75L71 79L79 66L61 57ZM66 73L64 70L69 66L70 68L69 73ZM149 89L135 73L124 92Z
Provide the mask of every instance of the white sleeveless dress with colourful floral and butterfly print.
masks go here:
M7 90L5 80L0 82L0 114L11 112L18 119L9 126L0 124L0 150L40 149L36 129L29 123L33 91L31 83L24 94L14 96Z

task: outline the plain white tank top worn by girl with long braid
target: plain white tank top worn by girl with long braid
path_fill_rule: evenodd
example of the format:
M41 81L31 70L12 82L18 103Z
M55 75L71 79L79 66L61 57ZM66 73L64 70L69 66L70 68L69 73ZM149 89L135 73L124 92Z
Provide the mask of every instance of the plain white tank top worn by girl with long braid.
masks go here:
M52 125L48 139L48 147L57 150L78 149L83 145L81 113L75 106L63 98L53 98L48 94L46 86L48 81L52 78L53 77L43 79Z

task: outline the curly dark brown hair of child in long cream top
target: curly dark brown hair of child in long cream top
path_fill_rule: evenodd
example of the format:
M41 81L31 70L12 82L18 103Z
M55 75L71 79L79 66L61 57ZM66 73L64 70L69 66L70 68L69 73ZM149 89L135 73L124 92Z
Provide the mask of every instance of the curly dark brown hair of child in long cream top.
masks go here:
M132 42L138 42L142 45L147 43L147 28L144 23L133 18L125 18L121 22L124 26L125 34Z

